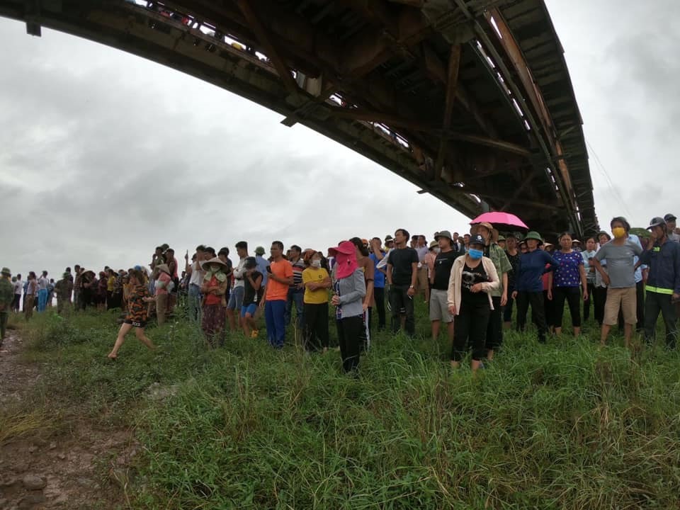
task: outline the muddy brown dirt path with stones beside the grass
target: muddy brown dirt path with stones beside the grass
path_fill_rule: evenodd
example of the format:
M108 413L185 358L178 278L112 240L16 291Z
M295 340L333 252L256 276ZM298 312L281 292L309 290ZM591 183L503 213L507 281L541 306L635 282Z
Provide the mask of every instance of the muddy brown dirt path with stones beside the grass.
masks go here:
M9 413L10 426L35 425L0 442L0 509L128 506L128 465L137 450L132 433L103 430L77 409L36 399L41 367L22 361L24 348L16 330L0 347L0 414Z

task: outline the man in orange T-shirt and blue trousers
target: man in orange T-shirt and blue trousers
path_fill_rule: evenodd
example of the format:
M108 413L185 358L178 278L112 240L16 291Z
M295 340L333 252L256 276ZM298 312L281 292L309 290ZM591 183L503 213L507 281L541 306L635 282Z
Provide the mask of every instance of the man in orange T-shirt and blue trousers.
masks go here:
M283 348L285 340L285 303L293 285L293 264L283 258L283 243L274 241L269 249L271 263L267 288L260 306L264 307L267 340L274 348Z

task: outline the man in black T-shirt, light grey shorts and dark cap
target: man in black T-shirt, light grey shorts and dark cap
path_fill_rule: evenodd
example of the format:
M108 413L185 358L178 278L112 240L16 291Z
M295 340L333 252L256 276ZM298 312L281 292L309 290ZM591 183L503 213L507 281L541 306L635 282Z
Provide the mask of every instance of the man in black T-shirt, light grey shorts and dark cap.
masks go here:
M432 340L439 336L439 326L446 324L448 341L453 343L453 315L448 311L448 280L451 276L453 261L458 258L458 251L453 250L453 239L448 230L441 230L435 237L439 244L439 253L434 259L434 268L430 274L430 322Z

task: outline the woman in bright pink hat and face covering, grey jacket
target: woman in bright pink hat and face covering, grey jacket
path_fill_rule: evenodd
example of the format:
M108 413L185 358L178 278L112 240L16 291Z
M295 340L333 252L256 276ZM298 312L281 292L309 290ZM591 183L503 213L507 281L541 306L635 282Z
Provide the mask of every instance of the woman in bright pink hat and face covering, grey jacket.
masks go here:
M331 303L336 307L338 341L342 368L345 373L356 372L359 365L361 336L363 336L363 298L366 284L363 271L356 262L356 247L344 241L329 249L336 258L335 294Z

